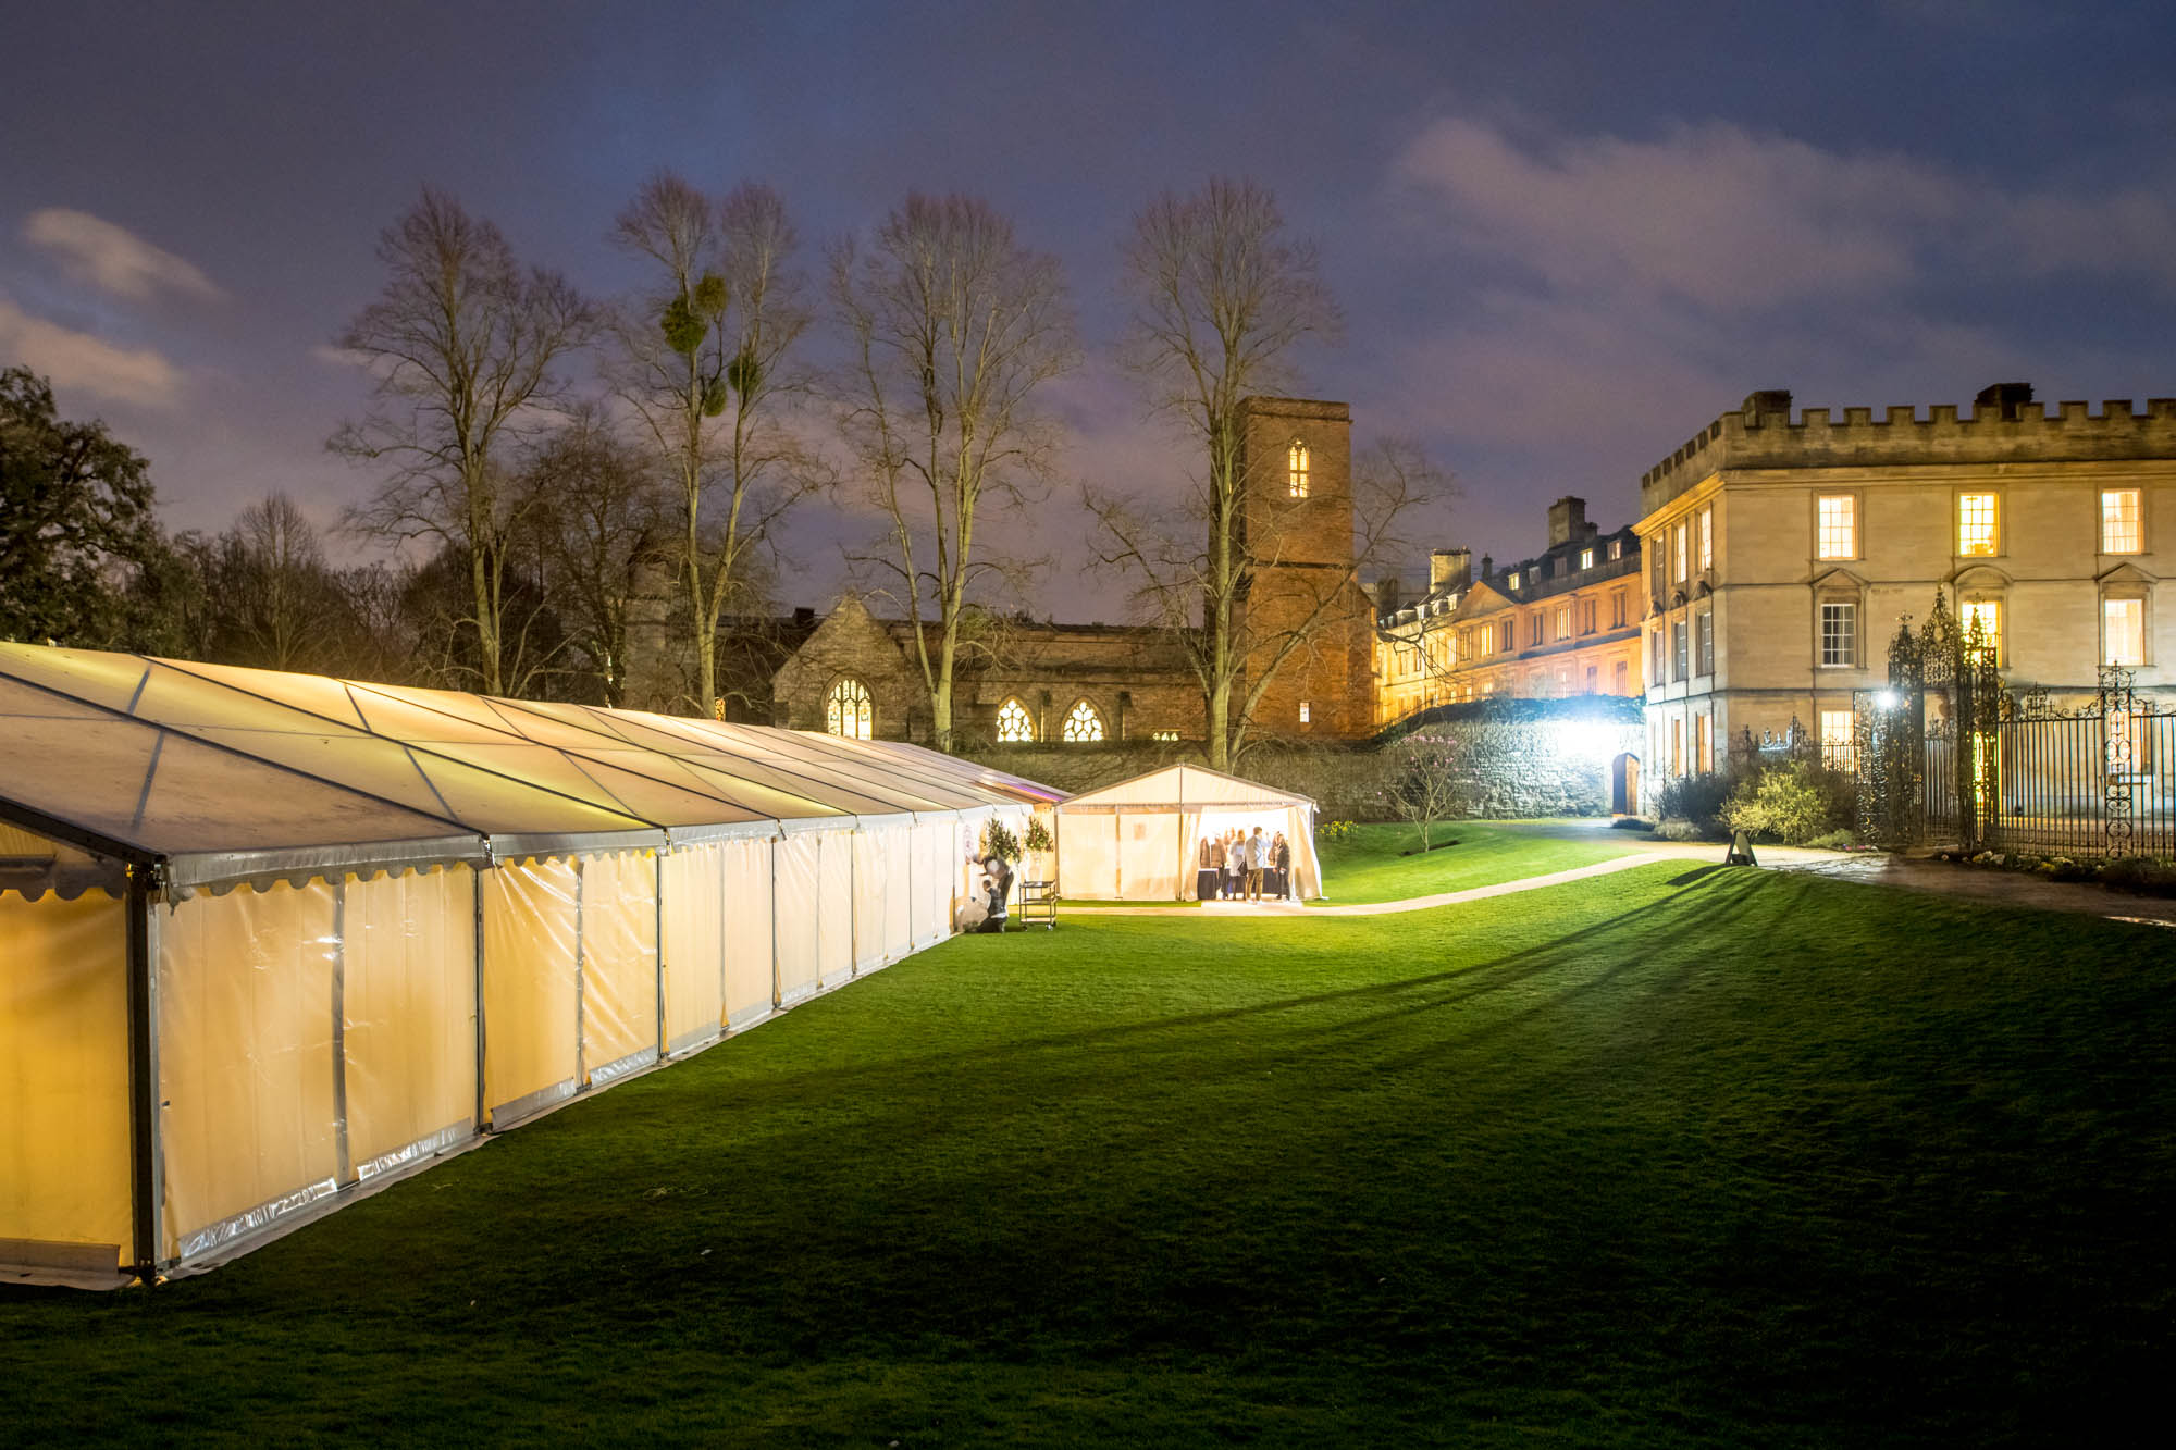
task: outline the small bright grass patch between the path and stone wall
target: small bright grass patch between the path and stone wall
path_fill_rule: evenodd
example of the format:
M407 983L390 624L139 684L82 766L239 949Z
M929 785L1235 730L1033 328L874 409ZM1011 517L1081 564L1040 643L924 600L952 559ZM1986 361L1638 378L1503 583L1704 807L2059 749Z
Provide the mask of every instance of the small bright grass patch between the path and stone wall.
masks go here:
M1597 860L1628 856L1634 845L1619 832L1597 827L1593 840L1554 840L1521 836L1495 821L1441 821L1432 840L1438 845L1421 856L1399 856L1421 845L1417 825L1356 825L1345 840L1319 840L1323 858L1323 893L1330 904L1404 901L1443 890L1469 890L1547 875Z

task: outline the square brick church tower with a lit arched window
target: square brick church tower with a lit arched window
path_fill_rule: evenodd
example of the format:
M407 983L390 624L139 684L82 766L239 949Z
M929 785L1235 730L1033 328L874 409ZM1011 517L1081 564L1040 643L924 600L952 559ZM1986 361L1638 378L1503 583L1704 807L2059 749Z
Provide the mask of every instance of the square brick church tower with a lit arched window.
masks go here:
M1240 470L1240 538L1249 560L1240 638L1249 675L1284 655L1253 710L1253 729L1367 734L1375 690L1373 610L1351 579L1351 409L1312 398L1245 398Z

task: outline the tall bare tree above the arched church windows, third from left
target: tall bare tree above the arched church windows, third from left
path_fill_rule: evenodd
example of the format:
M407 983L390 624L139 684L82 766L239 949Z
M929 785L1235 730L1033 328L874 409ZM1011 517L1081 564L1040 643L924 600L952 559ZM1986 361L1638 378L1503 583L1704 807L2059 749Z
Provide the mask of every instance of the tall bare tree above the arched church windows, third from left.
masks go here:
M1058 259L1014 239L970 196L907 196L866 246L831 255L849 359L844 433L883 507L892 579L938 749L951 749L953 677L977 583L977 516L1044 479L1053 431L1036 390L1079 359Z

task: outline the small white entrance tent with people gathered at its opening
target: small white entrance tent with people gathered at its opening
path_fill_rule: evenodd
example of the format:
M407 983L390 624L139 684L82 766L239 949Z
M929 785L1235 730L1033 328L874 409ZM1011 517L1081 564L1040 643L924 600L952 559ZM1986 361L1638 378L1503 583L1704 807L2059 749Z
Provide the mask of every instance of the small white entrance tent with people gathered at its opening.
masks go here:
M1058 888L1097 901L1190 901L1201 840L1262 827L1293 845L1293 890L1323 895L1314 801L1236 775L1177 764L1058 806Z

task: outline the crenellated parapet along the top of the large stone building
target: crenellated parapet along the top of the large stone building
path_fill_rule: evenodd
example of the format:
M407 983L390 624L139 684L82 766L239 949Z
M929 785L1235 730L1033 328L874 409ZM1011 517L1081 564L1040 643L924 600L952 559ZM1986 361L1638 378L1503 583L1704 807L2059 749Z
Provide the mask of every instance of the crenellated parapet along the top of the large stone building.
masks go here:
M1641 514L1723 468L1895 468L1911 464L2052 464L2104 459L2176 459L2176 398L2035 403L2024 383L1998 383L1969 409L1934 403L1806 407L1795 416L1789 392L1756 392L1745 407L1693 433L1676 453L1641 475Z

